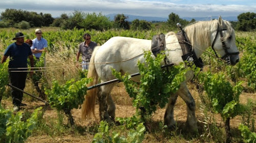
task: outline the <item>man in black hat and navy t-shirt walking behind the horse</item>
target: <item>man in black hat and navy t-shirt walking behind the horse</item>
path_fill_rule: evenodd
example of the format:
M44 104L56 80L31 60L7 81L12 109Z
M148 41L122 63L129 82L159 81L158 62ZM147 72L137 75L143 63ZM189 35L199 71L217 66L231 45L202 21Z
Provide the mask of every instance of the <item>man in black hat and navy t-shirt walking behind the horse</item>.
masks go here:
M10 44L5 50L1 63L6 62L8 56L9 61L9 75L11 84L20 89L24 90L27 78L27 59L30 59L31 67L34 67L34 58L30 49L30 46L24 43L24 34L18 32L15 34L16 42ZM33 72L30 72L32 75ZM14 111L19 110L19 106L22 104L23 92L17 91L12 88L12 104L14 105Z

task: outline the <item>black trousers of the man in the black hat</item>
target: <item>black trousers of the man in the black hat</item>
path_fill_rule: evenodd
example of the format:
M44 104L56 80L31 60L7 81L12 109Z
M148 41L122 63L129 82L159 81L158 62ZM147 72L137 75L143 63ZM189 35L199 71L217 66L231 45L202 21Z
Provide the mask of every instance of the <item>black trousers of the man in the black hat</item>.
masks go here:
M27 72L9 72L11 85L14 87L24 90L27 78ZM23 92L17 91L12 88L12 104L20 106L22 104Z

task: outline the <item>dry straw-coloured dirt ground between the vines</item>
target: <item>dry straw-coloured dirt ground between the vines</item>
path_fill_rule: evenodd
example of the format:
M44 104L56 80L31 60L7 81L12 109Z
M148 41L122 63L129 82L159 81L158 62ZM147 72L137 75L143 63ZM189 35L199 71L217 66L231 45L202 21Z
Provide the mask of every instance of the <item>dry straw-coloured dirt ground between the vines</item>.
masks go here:
M198 104L200 104L200 98L198 96L197 91L195 90L190 90L191 94L194 95L196 104L197 104L197 110L196 110L196 116L198 119L198 123L200 121L203 121L203 114L201 113ZM251 93L242 93L240 95L240 102L241 103L246 103L248 98L251 98L253 100L255 99L256 94L251 94ZM36 107L43 106L44 103L40 101L31 101L31 98L26 98L27 95L25 95L23 103L26 103L27 106L22 106L21 110L22 111L32 111ZM114 90L112 92L112 97L116 103L116 117L131 117L135 113L135 108L132 106L132 99L127 95L125 92L123 85L118 84L116 87L114 87ZM122 104L122 105L121 105ZM2 105L6 108L12 108L11 104L11 98L4 99L2 100ZM158 109L156 113L153 115L153 120L154 121L163 121L164 117L164 111L165 109ZM87 127L92 124L99 124L99 117L98 117L98 105L96 105L96 110L95 110L96 118L91 118L87 121L82 121L81 120L81 112L80 109L73 109L72 110L72 115L74 118L74 122L76 125L79 125L81 127ZM56 109L51 109L48 108L46 112L44 113L44 118L58 118L57 116L57 111ZM223 124L222 120L220 117L216 117L218 120L217 122L219 124ZM186 105L184 101L181 98L178 98L176 106L175 106L175 120L178 121L180 124L185 124L186 122ZM238 128L238 125L241 123L241 117L236 117L234 119L231 119L230 121L230 126L231 128ZM30 136L26 142L31 142L31 143L37 143L37 142L42 142L42 143L47 143L47 142L92 142L94 134L86 134L86 135L81 135L81 134L65 134L63 135L32 135ZM146 139L146 141L143 142L152 142L149 141L150 139ZM153 142L158 142L158 141L153 141Z

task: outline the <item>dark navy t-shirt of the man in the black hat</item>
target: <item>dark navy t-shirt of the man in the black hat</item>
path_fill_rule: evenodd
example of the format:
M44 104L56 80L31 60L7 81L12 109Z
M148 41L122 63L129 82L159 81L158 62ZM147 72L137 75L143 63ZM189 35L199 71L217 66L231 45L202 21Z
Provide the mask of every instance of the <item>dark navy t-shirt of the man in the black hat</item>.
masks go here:
M26 43L22 45L12 43L7 47L4 55L10 56L9 68L27 68L27 59L29 55L32 55L32 51L30 46Z

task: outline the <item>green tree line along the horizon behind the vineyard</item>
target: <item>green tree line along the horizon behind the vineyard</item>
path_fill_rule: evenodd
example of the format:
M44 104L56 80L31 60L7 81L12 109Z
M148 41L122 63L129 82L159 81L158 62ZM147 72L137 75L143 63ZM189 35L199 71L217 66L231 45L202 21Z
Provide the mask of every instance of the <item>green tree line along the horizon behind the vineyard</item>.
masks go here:
M75 10L71 14L61 14L60 17L53 18L49 13L36 13L24 10L6 9L0 16L0 28L1 27L16 27L22 29L28 29L30 27L41 26L56 26L61 27L64 30L83 28L84 30L109 30L124 29L124 30L151 30L154 28L160 28L160 30L174 30L177 29L176 24L179 22L183 26L193 23L196 20L191 19L187 21L179 17L178 14L170 13L168 19L165 22L149 22L146 20L135 19L128 21L128 16L124 14L117 14L114 20L110 20L102 13L84 13L82 11ZM242 13L238 15L238 21L231 21L233 28L239 31L253 31L256 28L256 14L255 13Z

